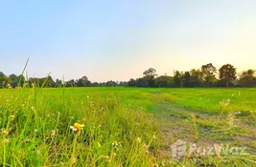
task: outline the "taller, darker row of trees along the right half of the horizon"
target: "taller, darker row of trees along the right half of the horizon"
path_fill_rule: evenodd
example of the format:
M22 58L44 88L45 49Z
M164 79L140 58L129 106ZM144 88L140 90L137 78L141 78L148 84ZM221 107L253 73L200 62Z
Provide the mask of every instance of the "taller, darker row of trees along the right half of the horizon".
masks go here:
M155 88L196 88L196 87L256 87L254 70L237 73L231 64L221 66L219 70L212 64L202 65L200 69L180 72L174 76L160 75L150 68L143 73L143 77L128 81L128 87Z

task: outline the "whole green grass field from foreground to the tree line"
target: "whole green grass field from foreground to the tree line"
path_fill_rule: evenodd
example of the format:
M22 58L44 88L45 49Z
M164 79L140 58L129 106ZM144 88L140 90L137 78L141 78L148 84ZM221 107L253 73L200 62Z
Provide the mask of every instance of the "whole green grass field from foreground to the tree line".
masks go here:
M256 89L0 90L0 126L1 166L256 165Z

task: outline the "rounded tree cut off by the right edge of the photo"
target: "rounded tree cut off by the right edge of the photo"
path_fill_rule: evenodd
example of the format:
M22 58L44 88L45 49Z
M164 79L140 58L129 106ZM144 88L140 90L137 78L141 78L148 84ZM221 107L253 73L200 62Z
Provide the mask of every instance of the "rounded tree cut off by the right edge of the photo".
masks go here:
M256 86L255 71L250 69L241 73L239 82L240 82L240 85L243 87L255 87Z

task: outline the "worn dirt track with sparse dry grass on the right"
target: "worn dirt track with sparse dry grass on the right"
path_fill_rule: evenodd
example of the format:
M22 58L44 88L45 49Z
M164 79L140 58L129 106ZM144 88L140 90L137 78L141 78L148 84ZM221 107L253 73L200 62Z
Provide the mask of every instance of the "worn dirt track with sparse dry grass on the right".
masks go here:
M151 111L159 122L161 131L162 145L160 154L162 157L172 157L172 144L176 140L181 139L188 143L195 141L195 135L198 136L208 132L216 123L220 124L220 129L226 128L227 120L223 118L219 120L220 115L207 115L200 112L193 112L185 108L175 105L168 99L164 99L160 94L155 94L154 107ZM193 118L193 116L195 118ZM195 128L195 120L197 122L197 130ZM253 135L254 129L252 127L245 127L242 122L235 122L239 128L232 129L232 131L223 131L219 133L210 133L203 136L197 142L200 146L213 146L216 143L226 143L230 145L244 145L248 147L248 151L255 153L256 138ZM247 135L242 132L251 131L252 134ZM245 138L245 139L243 139ZM247 138L254 138L248 140ZM254 151L253 151L254 150Z

